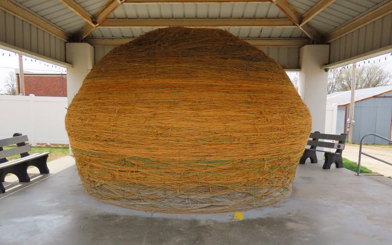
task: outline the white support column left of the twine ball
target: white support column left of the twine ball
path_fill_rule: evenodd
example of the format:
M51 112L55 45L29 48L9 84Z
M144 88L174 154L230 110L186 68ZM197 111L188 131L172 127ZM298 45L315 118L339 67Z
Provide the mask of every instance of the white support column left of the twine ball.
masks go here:
M68 105L82 86L86 75L94 66L94 47L87 43L66 43L66 61L73 65L67 68ZM70 146L70 155L73 153Z

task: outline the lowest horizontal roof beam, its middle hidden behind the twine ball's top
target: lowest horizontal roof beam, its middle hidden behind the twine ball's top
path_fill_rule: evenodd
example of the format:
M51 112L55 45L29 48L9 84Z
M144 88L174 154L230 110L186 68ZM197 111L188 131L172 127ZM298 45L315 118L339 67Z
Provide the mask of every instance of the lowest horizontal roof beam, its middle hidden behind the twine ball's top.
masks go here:
M115 47L135 39L136 38L86 38L84 39L84 41L89 43L91 46ZM310 44L310 39L308 38L243 38L243 40L256 47L302 47L307 44Z

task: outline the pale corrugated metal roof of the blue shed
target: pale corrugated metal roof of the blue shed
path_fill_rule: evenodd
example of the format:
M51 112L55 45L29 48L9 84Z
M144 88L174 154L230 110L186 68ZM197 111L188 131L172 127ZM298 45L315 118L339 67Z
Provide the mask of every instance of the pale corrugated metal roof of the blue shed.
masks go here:
M384 93L392 92L392 85L380 86L368 89L357 89L355 90L354 100L355 102L366 98L371 98ZM346 105L351 100L351 91L335 92L327 96L327 105Z

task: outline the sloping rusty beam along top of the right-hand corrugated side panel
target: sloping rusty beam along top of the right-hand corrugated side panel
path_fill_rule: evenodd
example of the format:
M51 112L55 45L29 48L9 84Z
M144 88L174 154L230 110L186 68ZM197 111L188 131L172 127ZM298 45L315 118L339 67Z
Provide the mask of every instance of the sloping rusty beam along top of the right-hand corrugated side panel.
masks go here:
M380 18L383 18L384 16L392 13L392 1L389 1L372 11L368 12L367 14L363 15L362 17L354 20L353 22L350 22L341 28L331 32L326 36L325 41L327 43L330 43L350 32L353 32L365 25L368 25L371 22L374 22Z

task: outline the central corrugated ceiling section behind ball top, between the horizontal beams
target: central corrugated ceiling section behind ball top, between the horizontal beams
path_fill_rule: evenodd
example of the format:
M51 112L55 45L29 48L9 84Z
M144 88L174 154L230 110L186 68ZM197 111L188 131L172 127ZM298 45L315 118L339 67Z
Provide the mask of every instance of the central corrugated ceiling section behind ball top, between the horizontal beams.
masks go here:
M272 3L140 3L123 4L109 19L182 19L182 18L287 18ZM106 28L95 29L89 37L138 37L156 28ZM220 28L235 36L247 38L306 37L296 27L226 27Z

